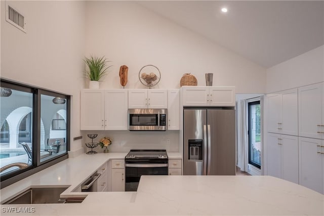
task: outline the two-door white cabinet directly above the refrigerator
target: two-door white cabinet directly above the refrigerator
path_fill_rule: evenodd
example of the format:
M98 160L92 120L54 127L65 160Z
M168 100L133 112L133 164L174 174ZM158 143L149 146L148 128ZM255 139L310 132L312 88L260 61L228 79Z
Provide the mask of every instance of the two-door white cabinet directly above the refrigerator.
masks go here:
M183 106L235 106L235 87L182 87Z

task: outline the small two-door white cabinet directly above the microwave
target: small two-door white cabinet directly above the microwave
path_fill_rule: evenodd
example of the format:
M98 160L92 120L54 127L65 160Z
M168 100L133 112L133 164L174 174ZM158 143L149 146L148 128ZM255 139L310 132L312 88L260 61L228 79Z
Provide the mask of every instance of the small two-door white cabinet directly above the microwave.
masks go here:
M167 109L168 91L158 89L135 89L128 91L130 109Z

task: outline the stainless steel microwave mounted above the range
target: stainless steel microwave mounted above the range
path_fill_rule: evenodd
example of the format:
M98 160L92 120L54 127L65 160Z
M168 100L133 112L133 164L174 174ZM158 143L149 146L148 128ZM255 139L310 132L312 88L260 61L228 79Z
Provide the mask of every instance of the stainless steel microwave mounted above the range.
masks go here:
M167 109L128 109L130 131L166 131Z

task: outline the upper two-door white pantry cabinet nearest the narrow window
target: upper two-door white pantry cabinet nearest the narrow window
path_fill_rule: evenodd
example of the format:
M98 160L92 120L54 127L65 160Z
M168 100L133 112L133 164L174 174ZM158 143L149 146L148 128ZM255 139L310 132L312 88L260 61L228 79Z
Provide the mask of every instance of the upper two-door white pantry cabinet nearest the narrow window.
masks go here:
M298 135L297 89L268 94L268 132Z

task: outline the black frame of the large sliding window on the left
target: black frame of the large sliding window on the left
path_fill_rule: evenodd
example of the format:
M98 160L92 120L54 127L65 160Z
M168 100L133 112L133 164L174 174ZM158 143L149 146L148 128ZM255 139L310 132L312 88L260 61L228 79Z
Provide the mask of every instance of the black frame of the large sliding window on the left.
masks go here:
M45 90L37 88L31 85L18 83L12 80L0 79L1 86L5 88L14 89L21 92L27 92L32 94L32 161L31 165L25 169L11 172L6 176L1 177L0 187L7 187L19 180L22 180L28 176L35 174L49 166L52 166L62 160L68 158L68 151L70 150L70 119L71 119L71 96L58 93L55 91ZM40 148L41 148L41 95L48 95L53 97L60 97L66 99L66 152L49 160L41 162Z

